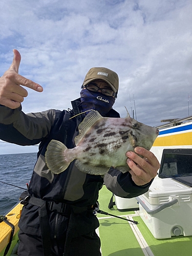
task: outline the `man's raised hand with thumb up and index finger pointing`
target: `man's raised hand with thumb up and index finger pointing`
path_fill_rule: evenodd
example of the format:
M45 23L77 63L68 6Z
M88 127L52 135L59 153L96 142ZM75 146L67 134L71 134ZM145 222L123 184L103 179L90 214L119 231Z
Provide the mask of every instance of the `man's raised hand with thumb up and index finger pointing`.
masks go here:
M14 57L10 68L0 77L0 104L8 106L10 109L18 108L27 97L28 92L22 86L37 92L43 91L38 83L18 74L21 56L17 50L13 50L13 53Z

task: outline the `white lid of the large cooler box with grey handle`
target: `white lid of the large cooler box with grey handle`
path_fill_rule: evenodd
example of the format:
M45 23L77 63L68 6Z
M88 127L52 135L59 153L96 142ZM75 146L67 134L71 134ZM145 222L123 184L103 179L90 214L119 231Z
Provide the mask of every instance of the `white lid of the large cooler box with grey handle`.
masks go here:
M148 190L148 197L167 197L192 194L192 187L176 180L155 179Z

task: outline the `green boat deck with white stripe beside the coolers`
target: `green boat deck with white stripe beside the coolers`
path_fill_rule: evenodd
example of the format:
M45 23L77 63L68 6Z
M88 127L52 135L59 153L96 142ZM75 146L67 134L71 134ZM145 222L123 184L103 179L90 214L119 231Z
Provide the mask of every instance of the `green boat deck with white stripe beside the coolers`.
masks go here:
M116 216L138 221L138 224L98 214L102 256L189 256L192 236L155 239L139 216L139 211L119 211L108 208L112 193L102 187L99 194L100 210Z

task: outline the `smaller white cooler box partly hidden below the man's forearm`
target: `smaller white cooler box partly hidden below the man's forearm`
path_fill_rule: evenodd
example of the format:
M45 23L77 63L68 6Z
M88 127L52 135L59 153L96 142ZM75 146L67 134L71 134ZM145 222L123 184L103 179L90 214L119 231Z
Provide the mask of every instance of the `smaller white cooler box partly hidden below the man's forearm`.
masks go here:
M136 198L115 197L115 204L119 211L139 210L139 204Z

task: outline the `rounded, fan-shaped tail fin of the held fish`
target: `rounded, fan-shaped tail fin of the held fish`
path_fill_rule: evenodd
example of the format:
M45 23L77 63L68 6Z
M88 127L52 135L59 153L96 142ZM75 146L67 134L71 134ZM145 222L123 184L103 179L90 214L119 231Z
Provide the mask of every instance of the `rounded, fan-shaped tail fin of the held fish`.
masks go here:
M51 140L47 146L46 164L52 173L60 174L69 166L70 162L64 157L65 150L68 150L67 146L58 140Z

